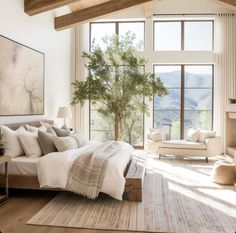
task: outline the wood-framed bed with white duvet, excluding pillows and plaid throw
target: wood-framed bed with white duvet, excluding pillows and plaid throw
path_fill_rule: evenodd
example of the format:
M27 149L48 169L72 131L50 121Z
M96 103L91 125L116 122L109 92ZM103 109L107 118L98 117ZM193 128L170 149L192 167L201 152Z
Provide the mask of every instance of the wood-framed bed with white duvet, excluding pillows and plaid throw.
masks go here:
M53 121L47 122L53 123ZM23 124L26 123L7 126L11 129L17 129ZM40 126L40 122L27 122L27 124L36 127ZM86 152L96 143L98 142L89 141L78 149L50 153L39 158L29 158L27 156L13 158L8 166L9 187L50 190L64 189L66 185L65 177L69 168L68 164L71 163L75 155ZM141 201L142 187L140 186L142 186L144 169L139 166L139 169L142 169L140 173L139 169L137 169L137 163L131 161L133 153L131 147L124 144L123 149L128 150L128 153L121 153L119 156L114 156L109 160L101 192L118 200ZM4 182L3 172L3 167L0 167L0 185ZM139 174L138 177L137 174ZM142 174L142 177L140 177L140 174Z

